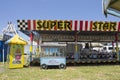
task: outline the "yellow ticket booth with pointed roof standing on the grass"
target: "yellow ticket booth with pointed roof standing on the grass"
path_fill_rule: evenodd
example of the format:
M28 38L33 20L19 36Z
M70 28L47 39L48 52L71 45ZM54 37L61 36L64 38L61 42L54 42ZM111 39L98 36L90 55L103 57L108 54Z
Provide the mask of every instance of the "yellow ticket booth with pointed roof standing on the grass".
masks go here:
M27 44L21 37L15 35L6 42L9 45L9 68L22 68L24 65L24 45Z

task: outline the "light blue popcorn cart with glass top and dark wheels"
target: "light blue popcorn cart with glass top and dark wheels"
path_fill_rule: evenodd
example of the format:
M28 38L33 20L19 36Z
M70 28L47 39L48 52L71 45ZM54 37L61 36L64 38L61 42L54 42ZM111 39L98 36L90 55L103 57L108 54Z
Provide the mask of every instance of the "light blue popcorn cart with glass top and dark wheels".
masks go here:
M66 68L66 58L63 46L42 46L40 56L41 69L47 69L48 66L58 66L60 69Z

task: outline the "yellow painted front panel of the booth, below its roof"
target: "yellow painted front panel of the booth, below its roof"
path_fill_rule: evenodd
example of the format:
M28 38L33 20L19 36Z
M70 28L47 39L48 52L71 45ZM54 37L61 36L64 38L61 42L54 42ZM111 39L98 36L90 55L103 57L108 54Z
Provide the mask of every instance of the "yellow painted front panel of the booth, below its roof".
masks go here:
M24 45L10 44L9 68L22 68L24 65Z

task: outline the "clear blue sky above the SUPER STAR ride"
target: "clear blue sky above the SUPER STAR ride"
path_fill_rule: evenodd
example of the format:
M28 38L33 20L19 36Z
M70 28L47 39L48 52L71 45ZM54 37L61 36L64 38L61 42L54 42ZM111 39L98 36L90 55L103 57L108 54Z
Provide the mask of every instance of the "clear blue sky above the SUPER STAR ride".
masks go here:
M18 19L119 21L105 18L102 0L0 0L0 32Z

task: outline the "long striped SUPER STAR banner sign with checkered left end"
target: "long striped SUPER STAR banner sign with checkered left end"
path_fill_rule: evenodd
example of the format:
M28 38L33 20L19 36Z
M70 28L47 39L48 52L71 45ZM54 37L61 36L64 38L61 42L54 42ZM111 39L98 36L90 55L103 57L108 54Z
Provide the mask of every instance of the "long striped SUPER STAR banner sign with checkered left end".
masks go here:
M18 20L19 30L120 31L120 22L78 20Z

